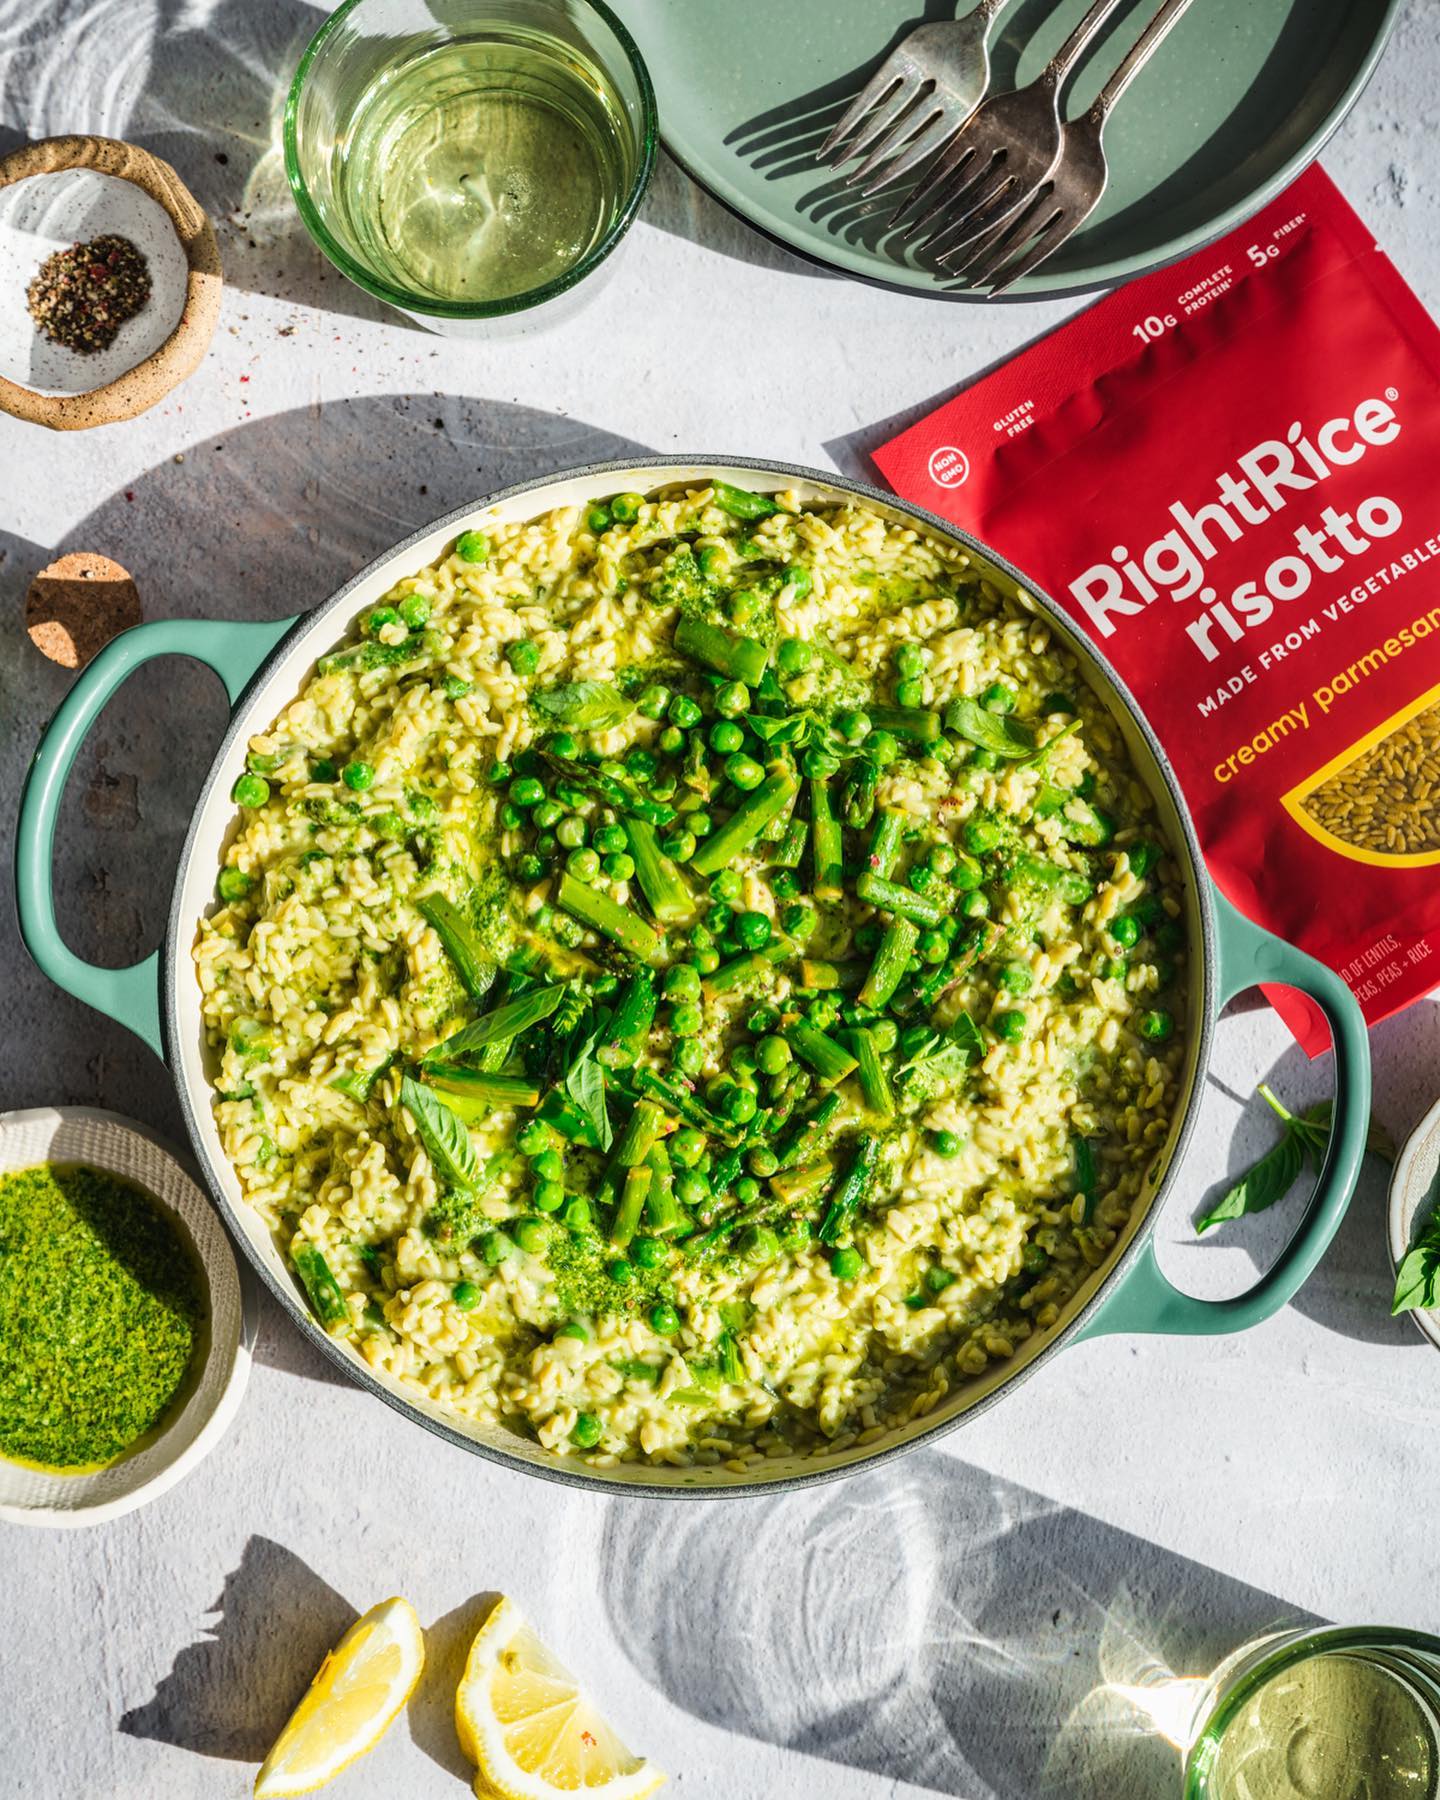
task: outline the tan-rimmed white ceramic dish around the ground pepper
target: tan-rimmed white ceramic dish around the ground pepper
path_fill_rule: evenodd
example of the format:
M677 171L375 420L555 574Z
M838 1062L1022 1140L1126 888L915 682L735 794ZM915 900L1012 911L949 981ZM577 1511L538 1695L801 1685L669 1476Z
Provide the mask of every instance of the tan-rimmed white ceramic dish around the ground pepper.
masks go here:
M151 293L115 340L65 349L31 319L27 288L54 250L130 238ZM49 137L0 158L0 410L72 432L131 419L198 367L220 317L220 250L167 162L113 137Z

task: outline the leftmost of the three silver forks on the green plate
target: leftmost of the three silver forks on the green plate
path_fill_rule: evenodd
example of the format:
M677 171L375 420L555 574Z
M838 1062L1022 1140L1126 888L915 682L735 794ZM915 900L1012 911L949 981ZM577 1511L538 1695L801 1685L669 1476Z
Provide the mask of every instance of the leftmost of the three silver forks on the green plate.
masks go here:
M898 182L941 149L990 86L990 25L1008 0L979 0L965 18L920 25L891 50L846 106L815 160L833 169L862 157L844 176L862 193Z

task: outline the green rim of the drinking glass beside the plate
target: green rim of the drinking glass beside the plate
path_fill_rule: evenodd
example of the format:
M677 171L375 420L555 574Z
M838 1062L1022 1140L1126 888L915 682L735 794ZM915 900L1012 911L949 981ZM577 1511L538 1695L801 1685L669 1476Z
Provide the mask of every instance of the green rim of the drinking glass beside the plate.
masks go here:
M576 0L583 5L587 13L594 13L596 18L603 20L605 25L616 34L619 47L625 50L626 61L635 76L635 83L641 90L641 112L643 112L643 135L641 135L641 157L635 167L635 178L630 184L630 193L625 198L625 205L619 209L616 218L610 221L605 236L594 243L585 256L580 257L563 275L556 275L553 281L544 283L538 288L526 288L522 293L508 293L500 301L441 301L428 293L409 293L403 288L392 288L387 281L382 281L371 270L364 268L355 257L338 243L319 211L310 198L310 189L306 187L304 175L301 173L299 144L297 144L297 117L301 110L301 94L310 76L310 67L320 54L329 34L346 20L356 7L364 5L365 0L344 0L329 18L320 25L310 43L304 47L304 56L295 68L295 77L290 83L290 92L284 99L284 175L290 182L290 193L295 196L295 207L299 209L301 221L315 243L324 250L329 261L340 270L346 279L353 281L356 288L364 288L376 301L385 301L389 306L398 306L405 313L423 313L430 319L504 319L511 313L524 313L535 306L544 306L545 301L553 301L556 295L565 293L574 288L587 275L590 275L605 257L616 248L621 238L626 234L639 212L641 200L644 200L644 191L650 185L650 176L655 169L655 155L661 142L661 122L659 108L655 104L655 86L650 81L650 70L646 68L644 58L641 56L639 45L625 29L625 25L616 18L605 0ZM477 9L479 11L479 9Z

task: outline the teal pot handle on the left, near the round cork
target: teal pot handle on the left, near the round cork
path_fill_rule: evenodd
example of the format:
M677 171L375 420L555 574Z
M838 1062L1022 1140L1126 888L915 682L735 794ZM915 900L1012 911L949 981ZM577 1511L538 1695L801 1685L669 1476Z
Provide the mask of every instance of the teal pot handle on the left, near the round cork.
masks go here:
M209 664L236 706L256 670L293 619L236 625L230 619L157 619L121 632L86 664L36 747L14 832L14 904L20 938L40 968L67 994L128 1026L164 1060L160 1031L160 952L130 968L99 968L59 936L54 898L54 842L59 803L79 747L110 695L142 662L194 657Z

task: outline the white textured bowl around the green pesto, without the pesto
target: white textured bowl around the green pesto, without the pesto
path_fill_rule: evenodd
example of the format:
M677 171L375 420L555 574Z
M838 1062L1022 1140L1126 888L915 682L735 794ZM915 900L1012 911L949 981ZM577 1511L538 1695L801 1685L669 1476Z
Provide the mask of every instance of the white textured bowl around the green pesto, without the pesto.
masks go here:
M11 1525L99 1525L187 1474L220 1442L250 1377L254 1301L241 1285L220 1217L169 1145L144 1125L95 1107L0 1114L0 1177L38 1163L88 1163L124 1175L173 1213L209 1287L209 1348L189 1399L160 1436L92 1474L49 1474L0 1454L0 1519Z

